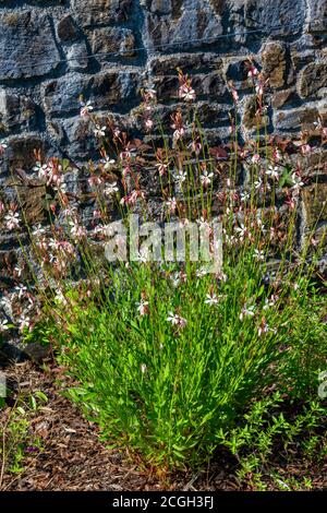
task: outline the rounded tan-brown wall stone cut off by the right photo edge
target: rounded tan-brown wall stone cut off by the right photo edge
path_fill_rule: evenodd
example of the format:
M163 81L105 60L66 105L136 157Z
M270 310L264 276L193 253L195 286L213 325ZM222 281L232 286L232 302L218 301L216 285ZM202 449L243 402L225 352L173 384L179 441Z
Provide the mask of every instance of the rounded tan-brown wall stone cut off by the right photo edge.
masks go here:
M327 94L327 62L312 62L299 75L298 91L302 98Z

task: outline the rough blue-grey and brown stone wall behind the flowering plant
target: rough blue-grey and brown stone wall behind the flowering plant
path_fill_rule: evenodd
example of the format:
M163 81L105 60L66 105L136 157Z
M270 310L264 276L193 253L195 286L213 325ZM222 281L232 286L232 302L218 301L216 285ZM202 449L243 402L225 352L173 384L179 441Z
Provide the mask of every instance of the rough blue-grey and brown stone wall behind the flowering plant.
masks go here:
M327 121L326 26L326 0L0 0L0 143L8 146L0 156L0 204L13 194L11 171L28 174L35 150L74 163L97 156L80 95L140 136L141 91L153 87L171 132L178 67L192 75L198 117L215 143L230 135L230 81L240 96L241 136L255 133L249 57L268 80L269 132L299 139L306 131L314 141L318 116ZM323 234L326 158L306 157L305 172L301 234L322 212ZM32 220L44 220L46 188L22 187L21 194ZM82 206L92 212L92 204ZM0 296L16 284L10 270L20 244L0 234Z

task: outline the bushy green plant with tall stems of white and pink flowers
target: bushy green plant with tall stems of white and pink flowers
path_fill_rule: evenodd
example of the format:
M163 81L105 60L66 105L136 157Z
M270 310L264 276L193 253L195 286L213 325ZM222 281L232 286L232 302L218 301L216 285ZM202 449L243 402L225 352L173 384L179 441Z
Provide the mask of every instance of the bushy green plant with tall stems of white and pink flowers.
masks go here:
M4 298L1 329L15 324L26 343L51 345L78 382L72 401L99 423L108 444L128 448L140 465L166 476L201 467L225 448L240 478L264 488L276 450L326 456L324 384L318 394L327 359L325 240L314 235L316 225L298 240L301 166L319 154L326 129L317 120L317 147L305 134L298 145L270 138L265 84L247 65L257 133L243 144L233 85L231 141L211 147L181 70L177 95L185 109L171 115L171 136L153 90L144 91L140 109L146 141L129 140L81 99L101 154L87 167L96 207L85 223L65 181L73 163L36 155L34 174L50 191L48 225L31 225L19 190L16 204L0 208L3 226L21 238L27 231L32 242L28 252L22 243L24 263L15 294ZM180 261L161 252L150 259L149 243L140 246L136 261L129 250L123 259L124 231L114 239L120 259L109 262L108 225L122 219L128 229L136 214L159 227L197 226L211 255L220 243L213 222L219 223L222 265L208 272L206 262L193 261L187 237Z

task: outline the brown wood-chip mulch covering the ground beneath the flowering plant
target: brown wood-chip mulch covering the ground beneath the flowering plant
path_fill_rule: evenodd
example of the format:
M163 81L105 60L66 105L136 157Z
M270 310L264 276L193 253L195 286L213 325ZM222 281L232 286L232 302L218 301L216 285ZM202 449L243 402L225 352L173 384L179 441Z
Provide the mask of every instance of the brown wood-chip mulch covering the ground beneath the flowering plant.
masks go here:
M11 365L4 369L14 389L9 406L17 391L33 394L43 391L48 403L31 416L31 436L39 437L43 450L26 456L25 470L20 475L4 473L2 491L148 491L148 490L251 490L240 486L235 463L225 454L219 455L205 472L178 474L159 479L152 469L142 469L123 451L106 449L96 425L87 421L81 411L62 395L63 369L50 363L47 371L32 361ZM69 384L69 383L66 383ZM0 456L1 457L1 456ZM217 458L218 460L218 458ZM0 462L1 466L1 462ZM327 464L322 468L306 468L303 462L274 466L287 478L311 478L313 489L327 489ZM266 479L265 479L266 480ZM276 489L267 477L268 489Z

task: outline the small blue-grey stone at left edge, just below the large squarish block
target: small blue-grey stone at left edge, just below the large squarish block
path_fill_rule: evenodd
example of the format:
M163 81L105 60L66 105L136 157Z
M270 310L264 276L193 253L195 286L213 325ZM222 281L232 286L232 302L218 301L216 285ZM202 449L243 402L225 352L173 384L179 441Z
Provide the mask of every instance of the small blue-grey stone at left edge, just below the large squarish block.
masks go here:
M12 129L36 129L36 109L35 103L27 96L0 90L0 133Z

